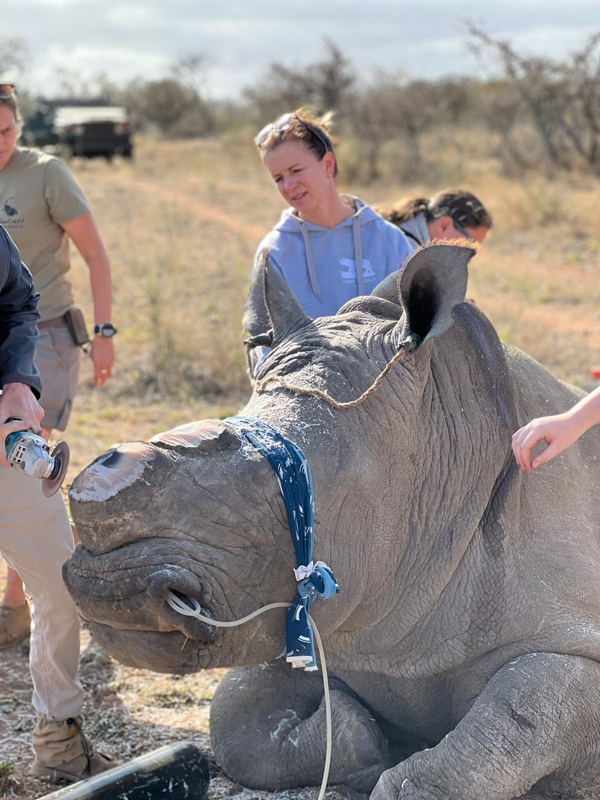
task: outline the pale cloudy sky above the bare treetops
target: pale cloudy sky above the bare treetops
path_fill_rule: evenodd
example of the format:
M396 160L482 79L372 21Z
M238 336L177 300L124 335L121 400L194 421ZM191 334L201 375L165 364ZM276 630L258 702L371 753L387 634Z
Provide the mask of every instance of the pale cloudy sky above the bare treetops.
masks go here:
M12 10L14 9L14 10ZM330 38L359 74L377 68L410 77L485 74L466 45L465 22L521 52L563 58L600 30L598 0L19 0L5 9L0 42L28 47L27 88L47 90L56 68L119 84L162 78L183 54L206 54L212 98L237 98L270 62L304 65Z

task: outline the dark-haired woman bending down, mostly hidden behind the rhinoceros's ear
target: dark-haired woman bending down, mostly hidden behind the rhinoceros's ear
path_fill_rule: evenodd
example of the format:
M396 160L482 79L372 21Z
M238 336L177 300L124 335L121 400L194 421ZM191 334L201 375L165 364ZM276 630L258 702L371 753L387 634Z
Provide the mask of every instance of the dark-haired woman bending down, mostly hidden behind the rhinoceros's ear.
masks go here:
M398 226L412 250L434 239L462 239L481 244L492 226L483 203L465 190L447 190L434 198L402 200L379 214Z

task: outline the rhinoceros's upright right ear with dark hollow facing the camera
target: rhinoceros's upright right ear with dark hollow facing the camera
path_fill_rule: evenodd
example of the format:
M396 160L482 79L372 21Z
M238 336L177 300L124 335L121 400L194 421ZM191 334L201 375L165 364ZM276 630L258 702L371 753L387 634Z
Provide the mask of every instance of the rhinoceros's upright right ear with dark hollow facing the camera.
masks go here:
M425 342L448 330L452 309L465 299L467 265L474 254L466 246L431 244L410 258L398 281L407 332Z

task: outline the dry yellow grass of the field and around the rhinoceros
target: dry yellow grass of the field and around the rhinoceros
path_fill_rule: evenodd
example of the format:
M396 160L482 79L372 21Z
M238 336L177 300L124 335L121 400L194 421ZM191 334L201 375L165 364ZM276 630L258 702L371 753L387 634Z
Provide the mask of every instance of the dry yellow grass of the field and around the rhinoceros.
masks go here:
M460 179L496 219L472 264L470 297L503 340L560 378L588 384L590 367L600 362L598 184L586 178L518 183L489 162L465 158L458 145L454 150L444 178ZM282 210L252 146L234 138L141 139L132 164L74 162L72 167L113 263L119 334L118 362L105 390L90 385L90 364L84 365L66 435L72 450L68 481L114 442L149 438L242 406L250 394L240 334L251 262ZM443 187L389 180L368 188L340 186L372 203ZM78 256L72 276L91 320L86 267ZM86 716L102 746L128 758L191 738L208 751L208 708L218 670L184 680L159 677L114 664L94 650L87 634L82 644ZM22 777L32 719L22 651L2 654L0 674L0 729L9 726L2 736L12 742L2 761L14 764L12 776L0 770L0 786L4 782L10 797L46 794L47 785ZM242 790L215 773L210 792L221 798ZM264 796L248 792L241 800Z

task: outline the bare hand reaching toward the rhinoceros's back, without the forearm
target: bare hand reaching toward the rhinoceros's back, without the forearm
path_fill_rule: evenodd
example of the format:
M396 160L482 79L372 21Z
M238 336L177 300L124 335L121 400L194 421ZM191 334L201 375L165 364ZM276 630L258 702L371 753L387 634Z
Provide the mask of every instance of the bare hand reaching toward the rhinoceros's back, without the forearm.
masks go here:
M546 464L562 450L566 450L582 433L581 424L578 424L577 418L569 411L554 417L532 419L513 435L514 458L522 470L534 470L536 466ZM546 442L546 450L542 450L532 462L531 450L542 439Z

